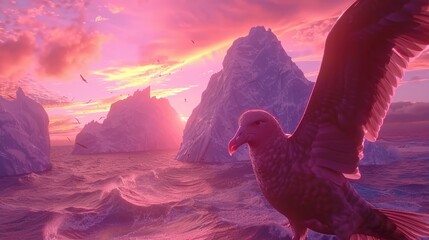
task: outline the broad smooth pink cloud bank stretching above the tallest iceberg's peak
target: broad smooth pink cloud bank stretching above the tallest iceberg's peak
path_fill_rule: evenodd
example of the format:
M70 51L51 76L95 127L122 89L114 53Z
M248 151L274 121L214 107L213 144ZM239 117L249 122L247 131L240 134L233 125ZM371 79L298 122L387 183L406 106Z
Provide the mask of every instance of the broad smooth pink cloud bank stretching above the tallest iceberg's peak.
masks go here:
M139 22L141 29L135 30L141 31L142 36L150 35L157 39L141 45L142 62L147 63L159 58L181 61L222 43L228 46L257 25L271 28L278 34L303 22L331 19L351 2L160 0L121 3L124 10L120 14ZM314 26L312 32L316 34L320 26ZM324 33L325 26L322 27ZM310 32L307 31L308 34Z

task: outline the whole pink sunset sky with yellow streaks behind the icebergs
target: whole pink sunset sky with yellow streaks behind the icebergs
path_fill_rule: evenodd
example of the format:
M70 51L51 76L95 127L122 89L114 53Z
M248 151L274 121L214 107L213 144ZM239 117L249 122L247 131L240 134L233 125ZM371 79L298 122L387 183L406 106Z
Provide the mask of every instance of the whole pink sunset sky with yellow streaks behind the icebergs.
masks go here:
M326 35L352 2L0 0L0 96L12 100L21 87L41 103L54 145L147 86L186 121L232 42L254 26L270 28L315 81ZM429 102L428 89L425 51L394 101Z

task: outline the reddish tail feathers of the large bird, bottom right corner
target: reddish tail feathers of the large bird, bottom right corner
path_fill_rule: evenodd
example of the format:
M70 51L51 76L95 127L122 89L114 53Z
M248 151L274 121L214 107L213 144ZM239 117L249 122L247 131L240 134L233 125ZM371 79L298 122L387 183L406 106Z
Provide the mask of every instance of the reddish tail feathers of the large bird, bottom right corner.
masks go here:
M422 213L403 212L389 209L377 209L396 228L388 227L390 224L372 225L372 233L380 237L372 237L364 234L353 235L351 240L377 240L377 239L403 239L418 240L422 237L429 237L429 215ZM374 216L375 217L375 216ZM376 217L377 218L377 217ZM376 221L378 222L378 221ZM390 229L390 230L388 230ZM392 231L393 230L393 231ZM371 234L372 235L372 234Z

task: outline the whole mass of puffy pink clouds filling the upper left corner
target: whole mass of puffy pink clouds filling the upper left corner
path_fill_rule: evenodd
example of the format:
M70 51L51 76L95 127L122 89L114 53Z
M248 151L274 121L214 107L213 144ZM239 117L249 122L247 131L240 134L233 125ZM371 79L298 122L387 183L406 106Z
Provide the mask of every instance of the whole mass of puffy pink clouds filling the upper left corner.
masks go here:
M86 24L91 14L89 2L33 0L3 4L0 77L37 69L42 78L58 79L85 69L98 56L103 37Z

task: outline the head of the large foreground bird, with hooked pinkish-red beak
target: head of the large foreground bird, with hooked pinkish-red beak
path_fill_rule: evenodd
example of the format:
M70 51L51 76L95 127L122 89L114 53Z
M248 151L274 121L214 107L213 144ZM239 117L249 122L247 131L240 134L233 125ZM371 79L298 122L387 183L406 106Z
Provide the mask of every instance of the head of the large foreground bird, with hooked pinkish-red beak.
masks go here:
M238 130L229 141L228 152L232 155L241 145L247 143L251 149L268 144L273 138L283 136L279 122L263 110L244 112L238 120Z

